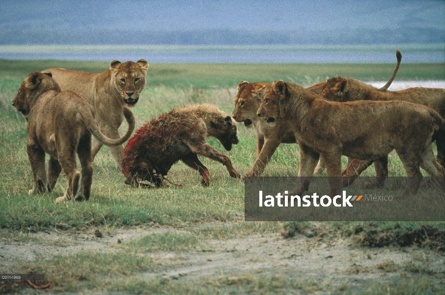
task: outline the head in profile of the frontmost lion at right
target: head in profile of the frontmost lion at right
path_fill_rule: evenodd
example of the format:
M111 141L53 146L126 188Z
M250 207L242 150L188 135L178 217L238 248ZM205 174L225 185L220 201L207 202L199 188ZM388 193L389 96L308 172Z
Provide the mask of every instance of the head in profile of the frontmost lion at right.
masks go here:
M283 80L275 81L271 89L264 94L257 116L264 118L271 126L275 125L280 116L280 100L283 100L285 96L286 83Z

